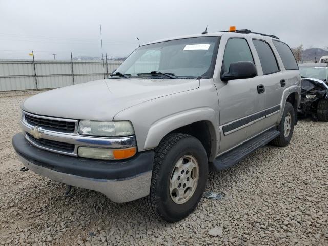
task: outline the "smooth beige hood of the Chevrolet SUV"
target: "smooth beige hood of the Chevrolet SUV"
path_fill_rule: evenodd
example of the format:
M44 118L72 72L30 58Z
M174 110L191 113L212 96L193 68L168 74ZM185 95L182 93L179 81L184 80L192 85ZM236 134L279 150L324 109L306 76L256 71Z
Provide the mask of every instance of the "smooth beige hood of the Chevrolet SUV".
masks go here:
M39 93L24 101L22 109L61 118L112 120L136 104L198 87L196 79L103 79Z

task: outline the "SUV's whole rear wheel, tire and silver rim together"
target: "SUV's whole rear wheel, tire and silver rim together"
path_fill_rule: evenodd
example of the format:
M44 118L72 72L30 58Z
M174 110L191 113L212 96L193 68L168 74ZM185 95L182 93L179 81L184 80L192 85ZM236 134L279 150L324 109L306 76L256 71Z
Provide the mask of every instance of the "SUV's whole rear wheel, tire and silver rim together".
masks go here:
M285 147L291 141L295 125L295 111L291 103L287 102L277 130L280 135L271 141L272 145Z

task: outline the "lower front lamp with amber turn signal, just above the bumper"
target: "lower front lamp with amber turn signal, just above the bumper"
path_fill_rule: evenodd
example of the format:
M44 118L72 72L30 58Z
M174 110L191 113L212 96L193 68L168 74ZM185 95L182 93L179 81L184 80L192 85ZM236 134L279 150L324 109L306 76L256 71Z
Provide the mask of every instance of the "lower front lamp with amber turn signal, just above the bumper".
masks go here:
M93 147L79 147L78 156L92 159L102 160L122 160L134 156L137 153L137 148L126 149L106 149Z

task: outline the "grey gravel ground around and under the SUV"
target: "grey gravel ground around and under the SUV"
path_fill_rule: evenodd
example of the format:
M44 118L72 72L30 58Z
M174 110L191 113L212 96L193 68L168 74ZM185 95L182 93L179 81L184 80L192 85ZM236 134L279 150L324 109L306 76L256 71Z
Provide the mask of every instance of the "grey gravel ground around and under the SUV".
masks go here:
M221 172L188 218L154 220L138 202L19 172L11 146L19 105L35 92L0 94L0 245L328 245L328 124L299 121L288 147L264 147ZM5 95L5 96L4 96Z

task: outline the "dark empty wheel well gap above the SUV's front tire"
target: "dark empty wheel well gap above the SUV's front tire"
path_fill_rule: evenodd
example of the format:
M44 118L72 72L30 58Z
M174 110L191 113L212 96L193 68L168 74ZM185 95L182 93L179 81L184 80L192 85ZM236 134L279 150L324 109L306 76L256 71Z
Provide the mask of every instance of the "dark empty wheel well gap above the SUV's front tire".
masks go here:
M207 121L198 121L173 130L171 133L185 133L197 138L204 146L208 158L211 155L212 137Z

